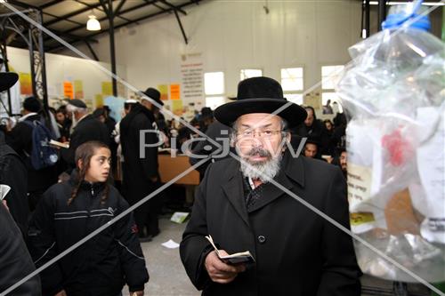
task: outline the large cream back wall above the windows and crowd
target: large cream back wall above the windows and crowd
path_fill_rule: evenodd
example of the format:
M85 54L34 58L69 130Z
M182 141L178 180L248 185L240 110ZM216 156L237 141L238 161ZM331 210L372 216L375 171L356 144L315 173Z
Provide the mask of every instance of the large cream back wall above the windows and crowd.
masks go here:
M309 88L320 81L321 65L346 63L347 48L360 40L360 1L269 0L269 14L264 4L216 0L186 9L180 17L188 45L174 14L117 30L117 62L126 66L128 82L143 90L180 83L181 54L202 52L204 70L223 70L226 95L236 95L239 70L248 67L279 80L280 68L303 66ZM109 60L107 34L93 48Z

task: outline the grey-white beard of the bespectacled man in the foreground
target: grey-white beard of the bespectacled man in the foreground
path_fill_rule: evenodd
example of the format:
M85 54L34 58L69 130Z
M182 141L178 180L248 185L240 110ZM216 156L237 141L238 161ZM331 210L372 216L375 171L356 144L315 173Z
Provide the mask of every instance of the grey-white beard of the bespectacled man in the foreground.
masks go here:
M247 178L261 180L263 183L270 182L279 172L281 167L281 154L271 157L265 162L251 163L247 158L241 158L244 162L240 162L240 171Z

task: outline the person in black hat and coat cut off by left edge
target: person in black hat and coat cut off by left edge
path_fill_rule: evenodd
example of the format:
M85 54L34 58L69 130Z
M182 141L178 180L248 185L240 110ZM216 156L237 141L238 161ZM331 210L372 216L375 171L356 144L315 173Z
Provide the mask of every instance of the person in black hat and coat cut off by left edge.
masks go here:
M15 73L0 73L0 92L4 92L12 87L17 80L19 80L19 76ZM24 196L26 192L23 190L23 187L26 188L26 170L18 158L7 145L0 145L0 166L2 169L0 170L0 183L11 187L5 196L3 196L4 192L2 192L0 199L4 197L10 206L21 204L23 207L28 207L28 202L26 200L23 201L23 198L26 198ZM23 178L25 179L24 182ZM21 200L12 200L11 198L20 198ZM27 219L28 217L24 218ZM23 221L23 223L28 224L27 221ZM36 268L23 241L23 236L21 236L22 233L20 234L20 228L14 223L11 214L2 202L0 202L0 227L2 228L2 231L0 231L0 275L2 275L0 276L0 292L4 292L12 284L16 284L36 270ZM11 294L41 295L39 277L32 277L12 291Z

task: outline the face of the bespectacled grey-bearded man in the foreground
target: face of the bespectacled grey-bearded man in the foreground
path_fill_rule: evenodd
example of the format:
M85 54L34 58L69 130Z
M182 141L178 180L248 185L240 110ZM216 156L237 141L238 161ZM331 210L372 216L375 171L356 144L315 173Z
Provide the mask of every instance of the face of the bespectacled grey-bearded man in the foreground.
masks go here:
M252 113L239 117L236 147L249 163L264 163L280 154L281 120L279 116Z

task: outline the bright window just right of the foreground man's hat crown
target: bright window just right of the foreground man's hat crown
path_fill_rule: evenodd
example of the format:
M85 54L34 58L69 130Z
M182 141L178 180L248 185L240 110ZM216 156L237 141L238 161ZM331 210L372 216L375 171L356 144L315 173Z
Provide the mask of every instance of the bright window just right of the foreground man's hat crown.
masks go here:
M303 68L282 68L281 87L287 100L303 104Z

